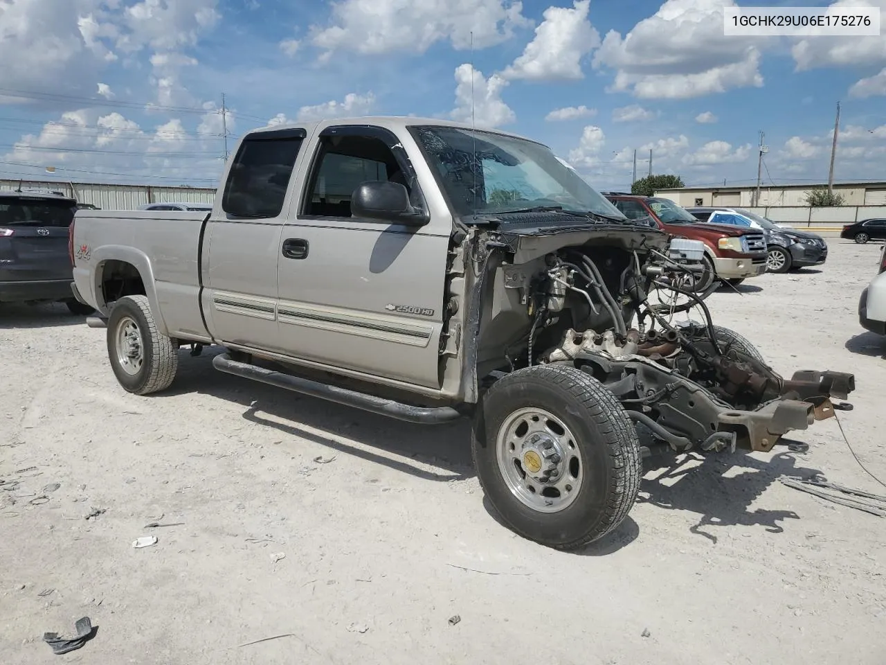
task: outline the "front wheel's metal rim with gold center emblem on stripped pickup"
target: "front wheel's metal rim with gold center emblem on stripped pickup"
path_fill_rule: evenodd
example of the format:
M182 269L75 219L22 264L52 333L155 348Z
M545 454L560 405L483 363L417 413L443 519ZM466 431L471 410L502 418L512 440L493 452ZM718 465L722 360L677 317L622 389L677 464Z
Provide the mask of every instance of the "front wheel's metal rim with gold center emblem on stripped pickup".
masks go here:
M544 409L514 411L499 428L496 458L517 500L537 512L560 512L574 503L584 479L578 439Z

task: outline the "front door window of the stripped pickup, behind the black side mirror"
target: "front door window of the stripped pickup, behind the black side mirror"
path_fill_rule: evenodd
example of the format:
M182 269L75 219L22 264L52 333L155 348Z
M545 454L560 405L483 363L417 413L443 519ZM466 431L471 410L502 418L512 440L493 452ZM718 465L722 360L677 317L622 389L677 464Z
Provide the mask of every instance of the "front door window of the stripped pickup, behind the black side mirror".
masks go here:
M344 135L321 139L308 184L303 214L350 217L351 198L361 183L390 181L408 188L408 179L385 142Z

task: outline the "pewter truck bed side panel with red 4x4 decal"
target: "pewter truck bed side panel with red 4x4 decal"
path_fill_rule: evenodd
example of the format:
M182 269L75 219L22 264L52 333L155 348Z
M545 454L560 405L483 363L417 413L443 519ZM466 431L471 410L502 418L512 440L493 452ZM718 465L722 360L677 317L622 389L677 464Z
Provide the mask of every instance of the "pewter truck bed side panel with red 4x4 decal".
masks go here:
M209 213L167 210L80 210L74 215L74 284L105 316L96 293L99 264L113 258L132 263L144 276L161 332L206 339L198 303L200 231ZM96 276L92 278L93 270Z

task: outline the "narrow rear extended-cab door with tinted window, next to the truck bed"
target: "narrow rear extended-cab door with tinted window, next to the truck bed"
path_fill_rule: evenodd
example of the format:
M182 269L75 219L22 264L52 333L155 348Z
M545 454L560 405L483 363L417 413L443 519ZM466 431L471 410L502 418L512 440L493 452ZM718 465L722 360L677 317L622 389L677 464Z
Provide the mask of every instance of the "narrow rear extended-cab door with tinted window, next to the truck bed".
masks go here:
M215 340L279 350L277 254L306 129L247 135L231 160L202 245L202 306Z

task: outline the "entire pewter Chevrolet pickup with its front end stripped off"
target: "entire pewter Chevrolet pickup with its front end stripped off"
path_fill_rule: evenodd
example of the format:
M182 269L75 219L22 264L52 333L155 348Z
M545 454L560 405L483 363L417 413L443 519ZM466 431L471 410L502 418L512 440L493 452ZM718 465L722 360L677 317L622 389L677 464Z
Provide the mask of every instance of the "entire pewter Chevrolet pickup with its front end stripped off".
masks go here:
M180 348L215 346L221 372L470 418L486 497L540 544L574 550L626 518L638 425L673 450L768 451L854 389L773 372L680 286L701 243L627 219L527 138L412 117L278 125L240 139L221 183L211 213L77 213L74 293L120 385L161 391ZM689 309L703 321L678 321Z

